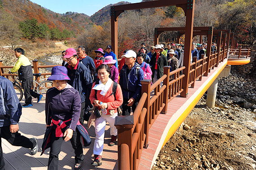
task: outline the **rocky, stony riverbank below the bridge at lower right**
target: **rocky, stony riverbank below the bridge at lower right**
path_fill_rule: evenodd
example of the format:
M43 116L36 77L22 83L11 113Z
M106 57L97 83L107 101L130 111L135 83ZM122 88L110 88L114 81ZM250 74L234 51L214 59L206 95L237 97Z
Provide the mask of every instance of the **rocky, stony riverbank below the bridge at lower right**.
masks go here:
M160 151L152 170L255 170L256 79L232 68L216 107L205 94Z

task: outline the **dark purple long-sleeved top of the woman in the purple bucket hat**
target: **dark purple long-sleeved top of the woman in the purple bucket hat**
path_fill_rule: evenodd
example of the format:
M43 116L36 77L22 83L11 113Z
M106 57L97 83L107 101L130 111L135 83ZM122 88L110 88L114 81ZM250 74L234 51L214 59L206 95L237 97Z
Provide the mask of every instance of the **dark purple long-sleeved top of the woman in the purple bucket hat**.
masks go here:
M66 122L67 128L75 131L76 124L81 112L81 99L77 90L67 84L66 88L59 91L52 87L46 92L45 99L45 121L46 125L51 125L52 119Z

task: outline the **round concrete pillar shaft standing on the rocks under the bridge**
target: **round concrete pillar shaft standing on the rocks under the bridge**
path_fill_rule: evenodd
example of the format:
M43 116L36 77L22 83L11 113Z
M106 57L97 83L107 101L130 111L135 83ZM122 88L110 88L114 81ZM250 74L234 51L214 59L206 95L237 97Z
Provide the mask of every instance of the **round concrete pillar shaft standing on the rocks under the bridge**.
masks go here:
M207 99L206 99L206 105L209 108L215 107L215 99L216 99L216 92L218 88L218 80L219 78L216 78L212 85L208 88L207 91Z

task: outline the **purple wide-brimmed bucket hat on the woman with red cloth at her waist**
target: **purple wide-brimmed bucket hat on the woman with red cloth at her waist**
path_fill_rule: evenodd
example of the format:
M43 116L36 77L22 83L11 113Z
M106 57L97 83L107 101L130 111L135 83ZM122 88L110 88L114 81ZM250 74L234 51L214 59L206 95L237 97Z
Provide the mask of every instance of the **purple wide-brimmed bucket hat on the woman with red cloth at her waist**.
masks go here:
M67 75L67 69L64 66L54 66L52 74L47 80L70 80Z

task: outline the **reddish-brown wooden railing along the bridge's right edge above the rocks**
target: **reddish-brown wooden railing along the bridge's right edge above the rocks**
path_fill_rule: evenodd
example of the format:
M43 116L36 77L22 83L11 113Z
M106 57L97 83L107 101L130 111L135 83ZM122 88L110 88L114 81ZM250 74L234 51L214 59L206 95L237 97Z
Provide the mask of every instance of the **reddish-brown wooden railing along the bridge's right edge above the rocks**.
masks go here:
M205 56L200 60L194 57L190 64L189 84L194 87L196 80L214 69L219 63L227 58L229 50ZM247 54L250 50L247 50ZM209 62L209 66L208 66ZM208 66L208 67L207 67ZM160 113L167 112L168 103L184 91L182 88L184 74L181 74L185 66L170 72L170 67L164 67L164 75L152 86L151 80L142 80L142 96L137 108L131 116L120 116L116 118L115 126L118 129L118 167L120 170L137 170L142 149L148 146L148 133L150 127ZM162 87L161 83L163 84ZM154 96L150 94L154 92ZM128 148L127 148L128 147ZM120 159L128 157L129 159Z

